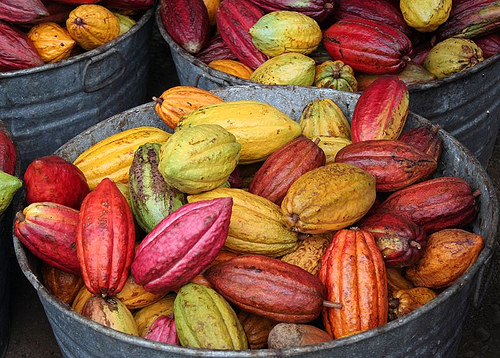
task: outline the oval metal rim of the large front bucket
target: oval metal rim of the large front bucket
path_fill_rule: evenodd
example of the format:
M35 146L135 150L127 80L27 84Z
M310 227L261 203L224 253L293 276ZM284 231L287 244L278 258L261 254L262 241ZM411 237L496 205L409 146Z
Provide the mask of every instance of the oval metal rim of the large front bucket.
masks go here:
M252 86L231 86L231 88L241 88L241 87L268 87L270 89L276 88L276 86L262 86L262 85L256 85L253 84ZM303 88L301 86L282 86L282 87L290 87L290 88ZM329 91L334 91L330 89L325 89ZM215 90L216 91L216 90ZM337 91L338 92L338 91ZM345 93L345 92L343 92ZM353 96L359 96L359 94L350 94ZM112 121L113 118L117 118L123 115L123 113L126 112L131 112L131 111L137 111L137 110L153 110L154 111L154 103L145 103L140 106L136 106L134 108L131 108L127 111L124 111L120 114L114 115L112 117L109 117L105 121ZM410 112L411 115L418 121L422 121L422 123L427 123L430 125L430 122L426 120L425 118ZM102 126L102 123L99 124ZM94 126L94 127L97 127ZM90 127L86 131L82 132L89 132L92 130L93 127ZM111 329L109 327L105 327L103 325L100 325L94 321L91 321L82 315L78 314L76 311L72 310L68 305L65 305L57 299L55 296L50 294L48 290L45 288L45 286L38 280L38 277L35 275L35 273L31 270L29 263L28 263L28 258L27 258L27 252L24 246L21 244L19 239L15 236L14 231L13 231L13 241L14 241L14 249L15 249L15 254L18 259L18 263L23 271L23 274L26 276L26 278L30 281L30 283L33 285L33 287L36 289L38 295L40 297L43 297L44 300L50 302L50 304L54 305L61 311L62 314L68 316L70 319L75 319L77 322L80 324L85 324L87 327L100 332L102 334L105 334L107 336L111 336L114 339L126 342L128 344L136 345L139 347L144 347L148 349L155 349L158 351L162 352L169 352L172 354L179 354L179 355L191 355L191 356L203 356L203 357L227 357L228 355L233 356L233 357L270 357L270 356L283 356L283 355L300 355L304 353L311 353L311 352L318 352L321 350L329 350L337 347L342 347L346 346L352 343L357 343L357 342L362 342L366 339L372 338L378 334L381 333L386 333L388 331L392 331L394 329L398 329L401 326L404 326L411 322L414 318L425 314L431 310L433 310L435 307L440 305L441 303L445 302L446 300L450 299L452 296L457 294L459 291L461 291L468 281L472 281L473 278L475 277L476 273L479 271L483 265L486 265L491 258L493 254L493 250L495 250L495 245L496 245L496 235L497 235L497 230L498 230L498 220L499 220L499 208L498 208L498 199L496 196L496 190L493 187L493 184L491 182L491 179L489 178L488 174L486 173L486 170L481 166L481 164L477 161L477 159L470 153L470 151L465 148L458 140L456 140L453 136L451 136L449 133L446 131L440 129L439 133L442 138L446 138L448 141L451 142L453 146L458 147L459 151L463 151L466 153L466 155L470 158L470 160L473 162L473 165L475 169L477 170L477 175L481 176L485 180L485 193L484 195L488 195L491 203L491 209L492 209L492 221L490 223L490 229L489 233L487 233L487 236L485 236L485 247L481 251L479 257L477 258L476 262L467 270L467 272L460 277L460 279L455 282L452 286L446 288L443 292L441 292L436 299L432 300L431 302L427 303L426 305L418 308L417 310L399 318L394 321L388 322L383 326L379 326L377 328L352 335L349 337L329 341L329 342L324 342L321 344L315 344L315 345L310 345L310 346L305 346L305 347L294 347L294 348L288 348L288 349L283 349L283 350L273 350L273 349L259 349L259 350L247 350L247 351L238 351L238 350L210 350L210 349L201 349L201 348L185 348L185 347L179 347L179 346L172 346L168 344L163 344L155 341L149 341L146 339L143 339L141 337L135 337L131 336L119 331L116 331L114 329ZM19 208L22 207L19 206ZM475 284L475 282L472 282L471 284Z

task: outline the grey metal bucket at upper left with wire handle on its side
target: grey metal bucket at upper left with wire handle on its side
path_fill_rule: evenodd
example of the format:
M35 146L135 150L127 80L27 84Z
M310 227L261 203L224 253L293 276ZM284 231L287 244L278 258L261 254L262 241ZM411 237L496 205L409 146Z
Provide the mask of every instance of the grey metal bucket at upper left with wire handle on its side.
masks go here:
M84 129L146 101L154 8L123 36L66 60L0 73L0 118L22 170Z

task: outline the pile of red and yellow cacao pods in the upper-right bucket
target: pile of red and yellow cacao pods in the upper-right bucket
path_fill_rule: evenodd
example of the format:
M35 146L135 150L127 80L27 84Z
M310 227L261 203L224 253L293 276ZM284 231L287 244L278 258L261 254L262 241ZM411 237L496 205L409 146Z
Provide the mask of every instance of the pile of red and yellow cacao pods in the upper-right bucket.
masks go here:
M161 0L162 23L208 66L262 84L364 90L443 78L500 52L495 0ZM194 59L194 58L193 58Z

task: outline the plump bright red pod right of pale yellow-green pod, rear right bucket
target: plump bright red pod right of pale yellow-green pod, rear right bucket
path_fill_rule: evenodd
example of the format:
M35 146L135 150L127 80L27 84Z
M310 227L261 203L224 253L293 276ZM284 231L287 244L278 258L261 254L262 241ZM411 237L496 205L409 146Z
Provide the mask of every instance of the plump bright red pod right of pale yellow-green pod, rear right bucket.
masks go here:
M337 21L324 32L323 44L335 60L372 74L402 70L412 52L410 39L401 31L366 19Z

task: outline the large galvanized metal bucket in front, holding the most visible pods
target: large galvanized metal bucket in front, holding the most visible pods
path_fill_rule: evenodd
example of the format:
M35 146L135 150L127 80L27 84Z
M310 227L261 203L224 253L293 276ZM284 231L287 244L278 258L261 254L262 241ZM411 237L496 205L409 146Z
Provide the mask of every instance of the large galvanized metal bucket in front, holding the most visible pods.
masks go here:
M214 90L225 100L258 100L299 120L303 107L315 98L331 98L351 118L357 94L297 86L234 86ZM410 113L406 128L429 122ZM105 137L125 129L151 125L167 129L145 104L115 115L79 134L56 154L74 160ZM480 300L492 265L498 227L496 192L486 172L472 154L443 130L443 155L438 175L460 176L480 189L480 212L472 230L484 236L486 245L469 271L436 299L414 312L376 329L322 344L284 349L222 351L181 348L133 337L90 321L51 295L40 281L39 262L14 236L14 247L23 273L37 290L58 344L65 357L454 357L469 307Z

